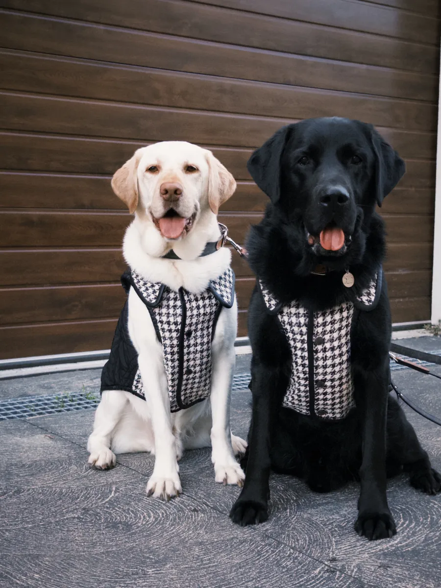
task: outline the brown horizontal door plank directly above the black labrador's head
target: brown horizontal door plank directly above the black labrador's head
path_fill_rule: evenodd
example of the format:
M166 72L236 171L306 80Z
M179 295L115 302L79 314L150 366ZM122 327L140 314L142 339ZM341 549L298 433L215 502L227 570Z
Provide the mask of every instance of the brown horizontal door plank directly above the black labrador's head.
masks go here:
M434 131L437 106L415 102L0 51L0 88L174 108L267 116L345 116ZM29 75L32 72L32 75ZM128 94L127 89L130 88Z

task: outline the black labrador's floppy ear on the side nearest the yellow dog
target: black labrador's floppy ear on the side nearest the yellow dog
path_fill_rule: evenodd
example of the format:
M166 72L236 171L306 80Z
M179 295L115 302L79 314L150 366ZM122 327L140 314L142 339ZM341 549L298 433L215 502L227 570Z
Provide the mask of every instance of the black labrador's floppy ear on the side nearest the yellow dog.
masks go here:
M283 126L263 143L246 164L251 177L275 204L280 198L280 160L294 125Z

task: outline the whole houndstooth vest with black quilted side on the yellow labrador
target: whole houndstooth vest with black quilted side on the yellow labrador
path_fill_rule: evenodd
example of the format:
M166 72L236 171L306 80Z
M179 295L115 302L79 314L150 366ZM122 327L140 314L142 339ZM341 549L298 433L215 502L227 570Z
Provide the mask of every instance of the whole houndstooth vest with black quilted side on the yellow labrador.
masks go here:
M122 282L126 291L133 288L146 305L156 336L162 343L171 412L208 398L212 375L211 342L220 310L223 306L231 308L234 302L233 270L228 268L219 278L212 280L201 294L192 294L183 288L176 292L160 282L149 282L135 271L126 273ZM122 362L122 368L113 367L113 364L121 364L121 355L126 352L122 349L121 340L125 339L124 345L128 345L126 308L123 313L125 318L121 316L122 325L118 324L112 343L110 365L106 364L103 369L101 392L109 389L126 390L145 399L138 354L135 352L136 355L133 355L131 342L133 350L129 353L129 359ZM119 337L118 331L121 332ZM118 340L115 342L115 339ZM131 367L126 369L128 365ZM113 381L117 379L115 372L118 371L122 372L125 379L123 385ZM125 377L126 371L130 372L128 377ZM131 381L129 385L128 380Z

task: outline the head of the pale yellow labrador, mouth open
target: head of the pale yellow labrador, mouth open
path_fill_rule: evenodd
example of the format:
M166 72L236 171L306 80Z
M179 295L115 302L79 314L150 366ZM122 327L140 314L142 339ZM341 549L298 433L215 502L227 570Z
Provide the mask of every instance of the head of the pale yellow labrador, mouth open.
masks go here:
M183 239L204 214L218 213L236 182L211 151L164 141L138 151L113 175L113 192L165 241Z

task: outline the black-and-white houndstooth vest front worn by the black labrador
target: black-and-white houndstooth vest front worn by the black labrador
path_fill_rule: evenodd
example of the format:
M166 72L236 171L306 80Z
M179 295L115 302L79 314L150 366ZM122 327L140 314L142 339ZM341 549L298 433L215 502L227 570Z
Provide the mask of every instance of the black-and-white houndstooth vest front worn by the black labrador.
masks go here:
M373 310L382 270L354 302L310 311L293 300L283 306L259 280L268 312L277 315L291 349L292 368L283 406L302 415L343 419L355 406L350 365L350 330L355 310Z

